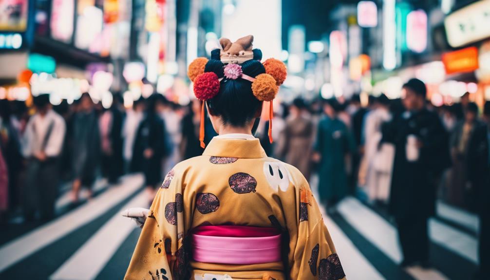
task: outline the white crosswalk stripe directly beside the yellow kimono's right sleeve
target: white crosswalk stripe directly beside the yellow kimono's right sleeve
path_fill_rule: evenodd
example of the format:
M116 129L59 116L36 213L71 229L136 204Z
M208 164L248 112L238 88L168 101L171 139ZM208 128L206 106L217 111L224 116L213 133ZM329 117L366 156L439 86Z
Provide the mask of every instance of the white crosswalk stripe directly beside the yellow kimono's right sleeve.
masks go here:
M318 176L312 176L311 186L315 197L318 197ZM327 226L328 232L334 241L335 249L342 262L347 279L366 279L366 280L384 280L385 278L371 265L364 255L357 250L356 246L342 232L339 226L325 213L325 208L320 206L323 221Z

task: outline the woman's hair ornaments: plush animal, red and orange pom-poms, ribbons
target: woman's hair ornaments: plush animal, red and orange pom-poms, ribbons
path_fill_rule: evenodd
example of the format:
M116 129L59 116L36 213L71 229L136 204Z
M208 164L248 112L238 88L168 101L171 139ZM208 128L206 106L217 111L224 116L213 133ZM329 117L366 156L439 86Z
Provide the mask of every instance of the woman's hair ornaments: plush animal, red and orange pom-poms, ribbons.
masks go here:
M270 102L269 115L269 140L272 142L272 100L279 91L287 76L286 66L282 61L274 58L266 60L263 65L265 73L256 77L250 77L243 73L241 64L248 60L262 60L262 51L252 49L253 36L248 35L231 43L227 38L220 39L221 48L211 51L211 60L220 60L222 69L206 70L208 60L204 57L196 58L187 71L189 79L194 82L194 93L202 100L201 124L199 129L199 140L204 148L204 104L206 100L215 97L220 92L220 82L223 79L244 79L252 83L252 93L260 101ZM222 70L222 72L221 72Z

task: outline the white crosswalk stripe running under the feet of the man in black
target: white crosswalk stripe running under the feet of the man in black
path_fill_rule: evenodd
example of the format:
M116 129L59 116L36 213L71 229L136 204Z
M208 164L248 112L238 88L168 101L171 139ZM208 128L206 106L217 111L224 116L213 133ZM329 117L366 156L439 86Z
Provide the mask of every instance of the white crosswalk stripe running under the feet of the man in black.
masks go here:
M352 197L345 198L338 209L356 231L395 263L401 262L402 254L398 247L397 232L390 223ZM413 267L406 271L417 280L447 280L441 272L434 269Z

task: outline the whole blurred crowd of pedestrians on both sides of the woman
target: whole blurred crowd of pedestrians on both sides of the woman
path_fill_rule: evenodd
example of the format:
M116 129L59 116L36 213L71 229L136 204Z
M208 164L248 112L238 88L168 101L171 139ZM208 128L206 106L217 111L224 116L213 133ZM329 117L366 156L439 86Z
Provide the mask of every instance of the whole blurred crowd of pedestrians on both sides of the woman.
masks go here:
M266 153L296 166L307 179L318 174L319 200L335 214L347 195L391 213L398 227L404 262L428 265L428 217L437 199L480 215L480 236L490 236L490 103L434 107L426 87L412 79L404 97L354 94L350 99L296 98L276 106L272 119L257 122L256 137ZM148 201L162 174L198 156L201 104L170 102L161 94L124 108L114 94L110 108L88 93L57 106L49 96L24 102L0 100L0 213L24 221L49 220L60 184L71 185L72 204L81 188L89 198L99 178L117 187L126 173L142 172ZM483 114L480 114L483 112ZM209 119L205 142L216 134ZM488 240L481 240L481 264L488 263ZM487 265L488 267L488 265Z

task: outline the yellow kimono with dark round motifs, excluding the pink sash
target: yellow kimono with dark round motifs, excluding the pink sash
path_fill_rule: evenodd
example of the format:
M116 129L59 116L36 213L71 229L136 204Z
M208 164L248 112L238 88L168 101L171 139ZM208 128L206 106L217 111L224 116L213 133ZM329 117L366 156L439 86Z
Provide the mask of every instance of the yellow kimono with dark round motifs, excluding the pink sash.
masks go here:
M194 261L200 225L275 227L282 261L232 265ZM345 279L308 182L266 156L258 139L211 140L202 156L167 174L129 264L127 280Z

